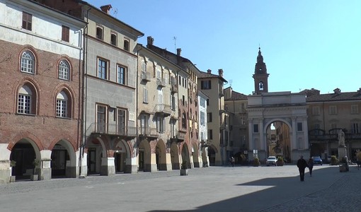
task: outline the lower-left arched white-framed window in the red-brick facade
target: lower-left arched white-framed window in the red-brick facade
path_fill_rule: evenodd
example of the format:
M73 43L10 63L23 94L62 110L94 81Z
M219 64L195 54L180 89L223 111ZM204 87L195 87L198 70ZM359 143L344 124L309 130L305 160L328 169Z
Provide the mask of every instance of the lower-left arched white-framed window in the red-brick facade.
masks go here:
M35 93L28 86L23 86L18 90L18 113L35 114Z

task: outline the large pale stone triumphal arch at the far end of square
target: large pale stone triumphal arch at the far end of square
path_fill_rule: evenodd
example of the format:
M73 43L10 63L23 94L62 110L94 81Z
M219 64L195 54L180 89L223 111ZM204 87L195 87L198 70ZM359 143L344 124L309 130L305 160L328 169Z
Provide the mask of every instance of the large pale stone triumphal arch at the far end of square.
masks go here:
M296 163L300 155L309 157L306 94L260 93L248 96L248 160L281 155ZM270 125L273 130L270 129ZM273 131L271 139L270 131ZM273 148L270 143L274 142ZM256 155L255 155L256 153Z

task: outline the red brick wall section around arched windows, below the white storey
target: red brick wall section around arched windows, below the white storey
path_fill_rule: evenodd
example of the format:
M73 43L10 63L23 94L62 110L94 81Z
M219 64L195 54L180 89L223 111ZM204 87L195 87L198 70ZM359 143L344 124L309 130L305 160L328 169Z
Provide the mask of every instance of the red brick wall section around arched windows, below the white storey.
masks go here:
M0 143L9 143L8 148L20 139L31 139L40 150L50 149L60 139L65 139L77 149L80 136L79 122L79 59L69 58L34 49L30 46L16 45L0 40ZM20 57L23 49L35 53L36 73L20 71ZM67 59L71 64L71 80L60 80L58 64ZM16 114L18 89L25 81L31 82L38 90L38 104L35 115ZM67 88L71 95L71 118L55 117L57 93Z

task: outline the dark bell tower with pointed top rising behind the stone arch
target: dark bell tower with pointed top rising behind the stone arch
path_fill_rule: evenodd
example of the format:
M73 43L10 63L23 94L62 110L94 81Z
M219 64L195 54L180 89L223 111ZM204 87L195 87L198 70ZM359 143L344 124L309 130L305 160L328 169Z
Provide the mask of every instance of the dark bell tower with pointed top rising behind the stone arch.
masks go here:
M254 91L256 95L261 93L268 93L268 76L267 68L263 62L263 56L260 52L260 47L258 48L257 62L255 66L255 71L253 74L254 78Z

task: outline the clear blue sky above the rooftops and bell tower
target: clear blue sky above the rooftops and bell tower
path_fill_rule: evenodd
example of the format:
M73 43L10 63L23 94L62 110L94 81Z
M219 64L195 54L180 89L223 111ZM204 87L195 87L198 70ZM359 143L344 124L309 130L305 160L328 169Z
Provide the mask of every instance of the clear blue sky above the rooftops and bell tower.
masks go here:
M211 69L249 95L258 47L268 91L355 92L361 88L361 1L348 0L90 0L144 33L138 42L176 53ZM176 39L174 39L176 37Z

